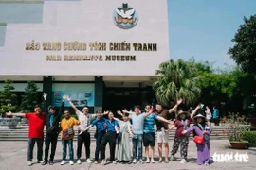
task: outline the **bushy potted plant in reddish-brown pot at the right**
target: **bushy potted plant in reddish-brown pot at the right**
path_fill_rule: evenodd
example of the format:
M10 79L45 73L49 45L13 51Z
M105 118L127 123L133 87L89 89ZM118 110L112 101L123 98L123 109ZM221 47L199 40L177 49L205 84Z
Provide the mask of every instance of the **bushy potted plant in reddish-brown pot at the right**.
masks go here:
M223 133L229 138L231 147L237 149L247 148L248 142L244 139L244 134L250 129L250 124L247 118L239 113L230 113L229 116L224 120Z

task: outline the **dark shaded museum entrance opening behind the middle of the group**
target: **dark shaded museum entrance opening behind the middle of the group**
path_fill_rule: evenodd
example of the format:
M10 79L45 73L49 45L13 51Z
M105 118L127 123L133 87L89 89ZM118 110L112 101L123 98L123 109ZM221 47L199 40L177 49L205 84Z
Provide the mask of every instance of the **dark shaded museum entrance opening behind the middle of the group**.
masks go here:
M133 110L134 106L143 107L155 101L155 94L145 88L106 88L104 110Z

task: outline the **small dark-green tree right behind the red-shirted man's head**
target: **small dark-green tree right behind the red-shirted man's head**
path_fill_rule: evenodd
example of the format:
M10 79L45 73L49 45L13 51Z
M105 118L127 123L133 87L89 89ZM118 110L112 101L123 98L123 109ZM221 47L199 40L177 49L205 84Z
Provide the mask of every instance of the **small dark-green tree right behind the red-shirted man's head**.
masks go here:
M31 112L34 110L36 104L38 104L38 92L39 87L34 81L28 81L25 88L25 95L22 96L21 108L23 112Z

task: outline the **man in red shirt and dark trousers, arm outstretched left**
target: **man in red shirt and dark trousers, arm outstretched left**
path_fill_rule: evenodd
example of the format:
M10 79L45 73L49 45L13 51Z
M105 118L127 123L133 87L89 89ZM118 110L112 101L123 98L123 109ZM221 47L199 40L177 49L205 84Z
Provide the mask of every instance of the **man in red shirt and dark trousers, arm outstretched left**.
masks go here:
M37 160L40 163L43 156L43 144L44 144L44 127L46 121L46 115L42 113L41 107L36 105L35 112L32 113L12 113L7 112L7 116L20 116L28 119L28 148L27 148L27 165L32 165L33 149L35 142L37 143Z

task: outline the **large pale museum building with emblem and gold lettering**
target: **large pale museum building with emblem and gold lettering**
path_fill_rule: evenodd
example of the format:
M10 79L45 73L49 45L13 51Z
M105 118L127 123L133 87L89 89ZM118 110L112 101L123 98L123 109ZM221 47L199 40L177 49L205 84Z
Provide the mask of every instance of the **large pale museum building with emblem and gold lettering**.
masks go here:
M168 59L167 0L0 4L0 91L12 79L19 101L33 80L55 106L63 94L91 111L152 104L155 71Z

